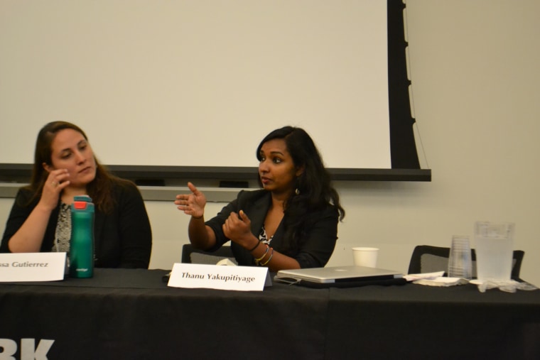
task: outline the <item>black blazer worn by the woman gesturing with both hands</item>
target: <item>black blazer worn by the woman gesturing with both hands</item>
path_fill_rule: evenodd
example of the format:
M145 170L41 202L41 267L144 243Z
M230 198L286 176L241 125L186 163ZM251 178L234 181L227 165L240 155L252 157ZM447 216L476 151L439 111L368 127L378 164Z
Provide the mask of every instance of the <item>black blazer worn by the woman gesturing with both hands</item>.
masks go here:
M271 205L271 194L266 190L241 191L237 198L223 207L216 217L208 220L206 224L212 228L216 236L216 246L208 251L215 251L225 244L229 239L223 234L222 225L231 212L238 213L244 210L247 217L252 222L252 234L259 239L266 218L266 213ZM338 240L338 210L331 204L323 211L310 214L313 219L313 226L308 230L306 238L301 240L300 248L296 250L286 250L284 239L285 228L283 222L271 241L274 250L295 258L300 263L301 268L318 268L328 263L334 251L335 242ZM254 266L255 261L251 253L232 241L231 249L239 265Z

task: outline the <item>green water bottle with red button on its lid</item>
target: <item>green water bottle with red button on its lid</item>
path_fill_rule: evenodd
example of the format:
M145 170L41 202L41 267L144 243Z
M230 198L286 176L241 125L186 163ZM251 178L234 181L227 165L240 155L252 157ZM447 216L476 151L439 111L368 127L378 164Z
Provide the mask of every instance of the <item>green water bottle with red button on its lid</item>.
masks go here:
M94 204L88 195L71 204L70 277L94 276Z

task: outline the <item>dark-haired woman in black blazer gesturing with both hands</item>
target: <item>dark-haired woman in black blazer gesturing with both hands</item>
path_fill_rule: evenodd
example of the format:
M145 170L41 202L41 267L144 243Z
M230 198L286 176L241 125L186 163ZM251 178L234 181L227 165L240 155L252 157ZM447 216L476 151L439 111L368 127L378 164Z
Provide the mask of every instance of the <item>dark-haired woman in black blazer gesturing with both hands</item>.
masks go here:
M176 196L178 209L191 215L191 243L215 251L231 240L239 265L271 271L325 266L345 210L315 143L303 129L285 126L269 133L256 155L262 189L239 192L207 222L206 198L195 185Z

